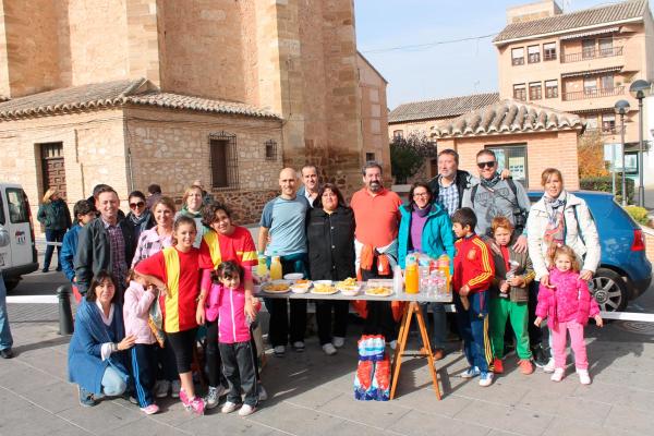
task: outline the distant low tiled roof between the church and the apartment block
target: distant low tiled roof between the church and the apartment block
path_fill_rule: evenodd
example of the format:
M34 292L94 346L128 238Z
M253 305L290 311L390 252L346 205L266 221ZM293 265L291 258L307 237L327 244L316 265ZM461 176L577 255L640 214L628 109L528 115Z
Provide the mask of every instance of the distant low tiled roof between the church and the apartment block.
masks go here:
M414 101L400 105L388 114L389 123L458 117L469 110L499 101L498 93Z

